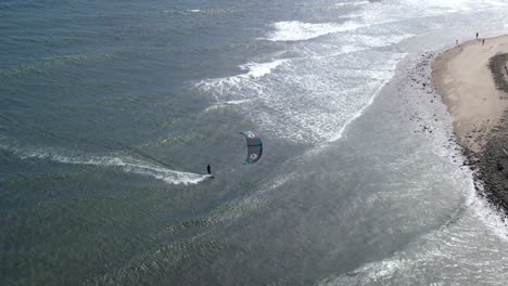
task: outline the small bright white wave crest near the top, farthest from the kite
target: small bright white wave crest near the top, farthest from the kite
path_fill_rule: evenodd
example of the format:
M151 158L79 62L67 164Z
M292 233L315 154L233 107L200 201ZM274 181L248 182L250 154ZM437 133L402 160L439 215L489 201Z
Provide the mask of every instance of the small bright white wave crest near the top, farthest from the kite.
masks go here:
M270 41L303 41L340 31L355 30L368 25L357 22L334 23L304 23L300 21L277 22L275 31L268 34L266 40Z

